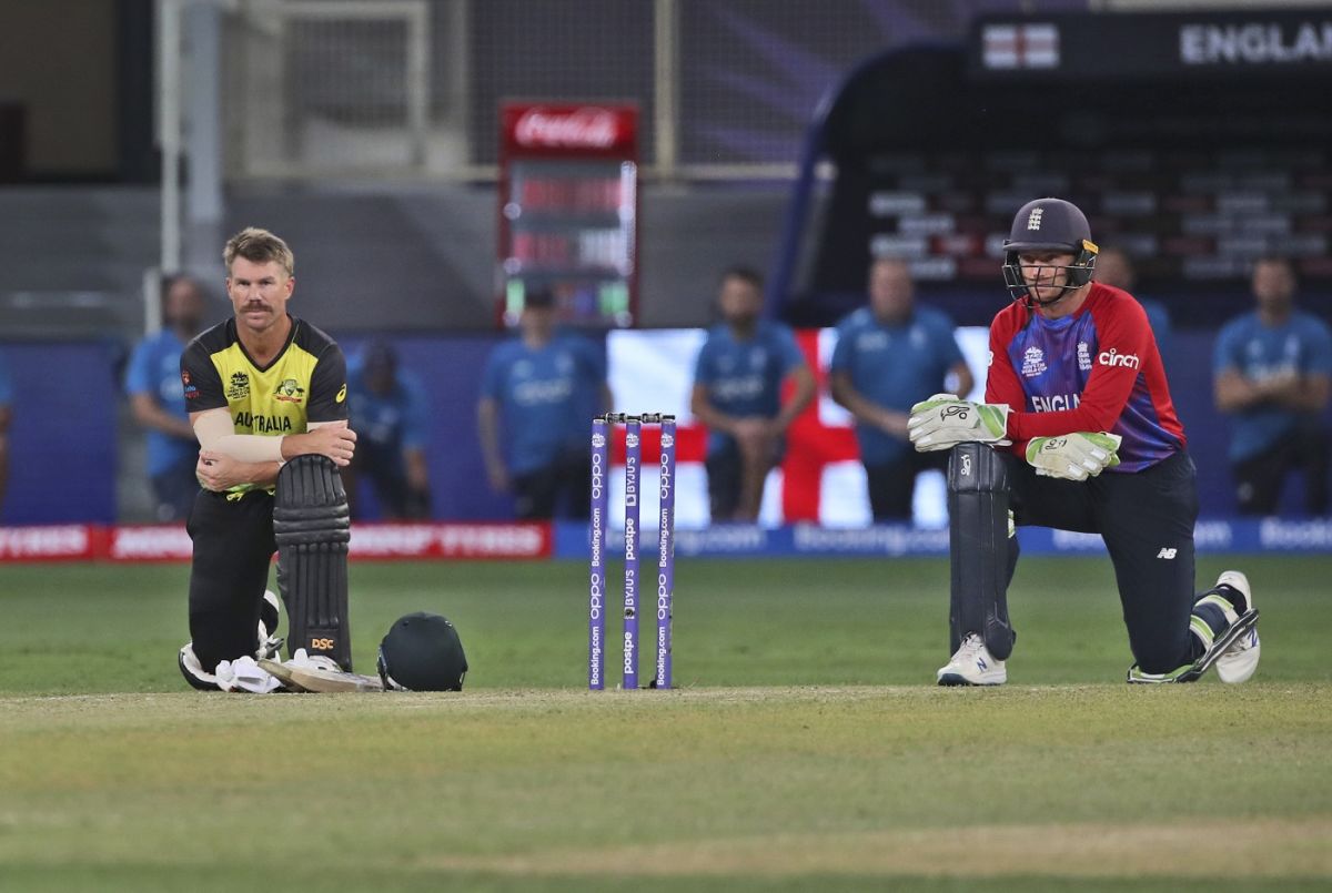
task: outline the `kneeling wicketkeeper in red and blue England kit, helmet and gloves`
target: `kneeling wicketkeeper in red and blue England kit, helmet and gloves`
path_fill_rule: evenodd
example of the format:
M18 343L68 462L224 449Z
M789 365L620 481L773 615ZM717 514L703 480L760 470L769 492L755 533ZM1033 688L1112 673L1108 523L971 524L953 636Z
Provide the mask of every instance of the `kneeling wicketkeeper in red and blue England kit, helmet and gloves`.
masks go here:
M1007 591L1015 526L1100 534L1115 566L1131 683L1240 683L1259 660L1248 579L1193 594L1197 492L1147 314L1092 281L1096 245L1071 202L1023 205L1004 242L1014 301L990 325L986 402L911 409L919 451L951 450L952 659L940 685L999 685L1016 633Z

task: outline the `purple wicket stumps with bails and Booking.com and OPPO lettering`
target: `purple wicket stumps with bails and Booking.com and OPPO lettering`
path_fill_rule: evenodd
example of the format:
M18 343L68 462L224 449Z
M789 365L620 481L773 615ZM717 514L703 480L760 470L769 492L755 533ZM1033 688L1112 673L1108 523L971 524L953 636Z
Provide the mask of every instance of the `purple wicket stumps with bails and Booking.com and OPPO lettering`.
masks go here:
M675 417L607 413L591 423L591 512L587 611L587 688L606 687L606 530L610 514L610 435L625 425L625 599L622 687L638 688L639 526L642 426L661 429L657 518L657 660L654 688L671 687L671 610L675 586Z

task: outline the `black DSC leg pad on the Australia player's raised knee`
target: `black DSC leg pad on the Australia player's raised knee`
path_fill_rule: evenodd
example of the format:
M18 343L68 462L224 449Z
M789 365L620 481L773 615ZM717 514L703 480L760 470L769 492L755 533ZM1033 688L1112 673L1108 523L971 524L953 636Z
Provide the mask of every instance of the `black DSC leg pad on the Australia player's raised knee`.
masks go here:
M352 669L346 550L350 514L332 459L300 455L277 475L273 503L277 584L286 599L288 648L325 655Z

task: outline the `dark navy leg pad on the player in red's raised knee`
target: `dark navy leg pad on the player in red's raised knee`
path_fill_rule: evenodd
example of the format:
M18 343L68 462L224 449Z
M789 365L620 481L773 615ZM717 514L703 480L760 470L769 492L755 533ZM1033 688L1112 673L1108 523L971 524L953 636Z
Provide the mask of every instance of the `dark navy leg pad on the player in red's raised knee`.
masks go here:
M950 625L954 644L979 633L998 660L1012 653L1008 624L1008 471L984 443L948 456Z

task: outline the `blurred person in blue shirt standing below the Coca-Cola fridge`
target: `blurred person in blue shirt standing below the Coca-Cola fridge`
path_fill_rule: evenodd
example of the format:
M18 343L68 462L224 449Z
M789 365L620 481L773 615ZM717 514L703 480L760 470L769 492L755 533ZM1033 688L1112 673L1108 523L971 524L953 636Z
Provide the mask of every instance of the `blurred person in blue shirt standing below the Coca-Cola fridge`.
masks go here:
M525 520L585 519L590 506L591 418L611 409L599 345L555 330L554 294L533 289L519 337L490 354L477 431L496 492L513 492Z

